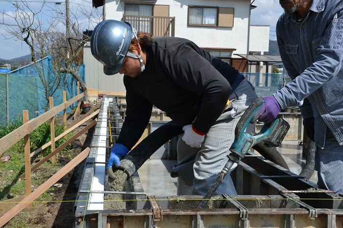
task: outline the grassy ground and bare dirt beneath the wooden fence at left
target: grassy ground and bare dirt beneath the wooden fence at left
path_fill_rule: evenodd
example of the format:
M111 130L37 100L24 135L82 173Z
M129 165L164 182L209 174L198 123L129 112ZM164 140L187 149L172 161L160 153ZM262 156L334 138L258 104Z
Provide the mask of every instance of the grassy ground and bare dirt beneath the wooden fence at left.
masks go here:
M69 114L69 116L70 118L67 118L68 125L77 122L77 120L71 118L73 117L73 113ZM59 136L64 132L64 126L62 124L63 116L57 116L55 118L55 136ZM21 125L22 123L19 121L3 125L0 126L0 132L3 132L2 134L4 136ZM65 138L56 141L55 148L58 148L62 143L68 140L68 138L75 135L77 131L78 129L75 129ZM34 170L31 173L31 190L34 191L37 189L53 174L63 168L70 160L75 158L75 156L84 149L83 143L87 138L86 136L86 134L83 134L80 138L77 138L70 145L57 153L56 163L51 163L49 160ZM50 124L44 124L44 126L30 134L31 153L49 141ZM51 151L51 147L49 146L48 148L30 159L31 166L36 164ZM3 153L3 151L1 153ZM20 176L25 173L24 140L21 139L18 141L2 155L9 155L11 158L6 162L0 161L0 203L4 200L25 196L25 177L20 178ZM46 192L35 199L34 202L31 202L29 206L11 219L4 228L72 227L74 224L73 200L76 198L79 184L79 182L77 182L79 181L78 174L76 176L74 175L75 172L78 172L82 167L82 164L79 165L80 166L77 166L76 171L72 170L58 180L57 183L62 184L62 186L50 187Z

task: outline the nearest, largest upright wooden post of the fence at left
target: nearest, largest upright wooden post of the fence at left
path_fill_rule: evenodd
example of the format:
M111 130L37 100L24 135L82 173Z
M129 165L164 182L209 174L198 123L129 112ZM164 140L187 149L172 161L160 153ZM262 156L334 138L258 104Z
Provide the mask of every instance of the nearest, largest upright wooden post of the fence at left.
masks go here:
M23 123L28 122L28 110L23 110ZM26 126L26 135L24 136L24 156L25 156L25 195L31 194L31 162L30 162L30 137L29 127Z

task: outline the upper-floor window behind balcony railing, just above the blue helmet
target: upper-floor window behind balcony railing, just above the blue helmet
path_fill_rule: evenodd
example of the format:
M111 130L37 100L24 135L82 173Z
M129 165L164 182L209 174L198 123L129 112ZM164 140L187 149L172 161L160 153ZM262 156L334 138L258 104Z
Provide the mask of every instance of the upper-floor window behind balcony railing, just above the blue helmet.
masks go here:
M148 4L125 4L126 22L137 31L152 32L152 6ZM132 16L132 17L131 17ZM138 17L133 17L138 16ZM149 17L144 17L149 16Z

